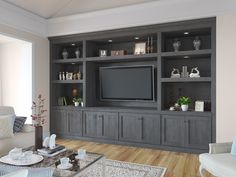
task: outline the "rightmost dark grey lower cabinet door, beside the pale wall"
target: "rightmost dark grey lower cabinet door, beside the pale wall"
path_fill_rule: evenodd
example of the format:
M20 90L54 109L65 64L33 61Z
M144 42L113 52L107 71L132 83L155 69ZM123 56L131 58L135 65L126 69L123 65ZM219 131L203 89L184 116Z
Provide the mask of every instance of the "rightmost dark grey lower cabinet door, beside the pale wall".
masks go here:
M186 118L186 146L208 149L211 142L211 118L191 117Z

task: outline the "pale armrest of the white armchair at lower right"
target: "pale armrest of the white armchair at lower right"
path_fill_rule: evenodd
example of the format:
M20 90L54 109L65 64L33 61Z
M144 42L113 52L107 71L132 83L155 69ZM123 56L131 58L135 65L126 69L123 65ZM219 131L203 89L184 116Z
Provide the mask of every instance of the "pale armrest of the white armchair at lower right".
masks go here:
M232 142L228 143L210 143L209 154L230 153Z

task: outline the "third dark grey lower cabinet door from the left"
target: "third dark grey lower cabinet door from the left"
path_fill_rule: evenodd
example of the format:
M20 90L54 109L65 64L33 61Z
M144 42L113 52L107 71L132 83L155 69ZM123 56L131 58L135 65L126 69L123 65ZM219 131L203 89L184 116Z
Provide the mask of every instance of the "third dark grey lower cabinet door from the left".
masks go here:
M86 111L84 113L84 136L102 137L102 122L99 112Z

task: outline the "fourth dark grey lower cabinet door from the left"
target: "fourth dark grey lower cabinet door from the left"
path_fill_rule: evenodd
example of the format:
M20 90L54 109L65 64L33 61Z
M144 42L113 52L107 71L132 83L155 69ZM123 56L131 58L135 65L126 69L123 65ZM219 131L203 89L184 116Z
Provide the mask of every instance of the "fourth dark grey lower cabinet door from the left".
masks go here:
M118 139L118 113L105 112L102 117L102 136L107 139Z

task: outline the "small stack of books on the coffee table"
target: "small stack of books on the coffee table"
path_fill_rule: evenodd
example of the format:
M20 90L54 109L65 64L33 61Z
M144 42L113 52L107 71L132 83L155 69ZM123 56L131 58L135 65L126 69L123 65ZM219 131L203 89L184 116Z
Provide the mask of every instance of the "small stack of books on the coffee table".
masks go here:
M38 149L38 153L42 156L46 156L46 157L53 157L57 154L60 154L61 152L66 151L65 146L61 146L61 145L56 145L55 148L50 149L50 148L42 148L42 149Z

